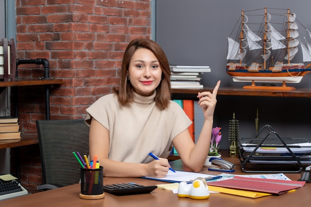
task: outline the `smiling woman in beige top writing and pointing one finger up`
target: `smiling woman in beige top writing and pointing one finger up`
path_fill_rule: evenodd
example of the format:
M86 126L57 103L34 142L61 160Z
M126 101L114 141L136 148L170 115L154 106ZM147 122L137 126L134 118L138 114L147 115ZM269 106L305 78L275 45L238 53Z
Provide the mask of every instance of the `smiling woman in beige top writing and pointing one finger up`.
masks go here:
M152 40L131 41L121 70L119 89L86 109L90 157L97 155L104 176L165 177L172 146L191 170L200 171L210 147L220 81L213 93L197 96L205 121L194 144L188 130L192 122L170 100L170 69L161 47ZM155 160L149 152L160 158Z

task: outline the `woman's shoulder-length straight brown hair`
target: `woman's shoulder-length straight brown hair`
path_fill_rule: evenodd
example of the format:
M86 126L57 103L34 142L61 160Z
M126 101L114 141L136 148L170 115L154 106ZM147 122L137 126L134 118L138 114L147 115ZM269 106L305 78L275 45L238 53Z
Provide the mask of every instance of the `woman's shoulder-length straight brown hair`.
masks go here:
M139 48L146 48L152 51L156 59L159 62L159 65L162 69L162 77L160 84L156 87L156 106L160 109L165 109L168 107L171 99L171 87L170 87L170 69L169 64L164 54L162 48L153 40L148 39L135 39L132 40L127 46L122 66L121 66L121 79L119 89L114 88L114 91L118 94L119 102L122 105L133 102L133 93L134 87L131 84L130 80L127 79L127 72L129 69L130 61Z

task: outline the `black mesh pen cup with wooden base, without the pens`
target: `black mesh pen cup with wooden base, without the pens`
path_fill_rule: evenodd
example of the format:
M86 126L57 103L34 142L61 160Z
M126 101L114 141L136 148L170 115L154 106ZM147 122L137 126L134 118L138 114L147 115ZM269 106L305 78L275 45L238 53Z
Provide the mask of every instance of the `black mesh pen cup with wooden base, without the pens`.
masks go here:
M105 197L103 189L103 167L98 169L81 168L81 199L102 199Z

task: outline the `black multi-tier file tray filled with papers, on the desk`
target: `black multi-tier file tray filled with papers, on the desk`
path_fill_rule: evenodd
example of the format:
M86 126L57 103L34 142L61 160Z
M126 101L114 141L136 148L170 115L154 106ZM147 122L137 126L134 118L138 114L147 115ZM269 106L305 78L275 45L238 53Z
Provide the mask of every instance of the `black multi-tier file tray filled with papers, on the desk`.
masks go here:
M263 131L268 133L261 137ZM311 143L305 138L281 138L270 125L254 138L239 138L239 161L244 172L301 172L311 163Z

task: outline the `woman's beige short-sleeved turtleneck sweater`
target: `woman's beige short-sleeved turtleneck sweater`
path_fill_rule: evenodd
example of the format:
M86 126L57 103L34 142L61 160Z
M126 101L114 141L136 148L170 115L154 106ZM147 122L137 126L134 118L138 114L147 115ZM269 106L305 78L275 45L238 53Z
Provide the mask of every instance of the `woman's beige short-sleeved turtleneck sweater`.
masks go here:
M153 152L166 158L172 150L172 140L191 125L183 109L174 101L160 110L152 96L135 93L134 102L121 106L116 94L108 94L86 109L85 122L97 120L109 130L109 159L148 163Z

